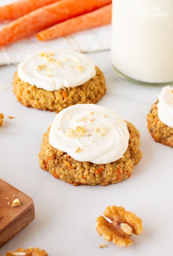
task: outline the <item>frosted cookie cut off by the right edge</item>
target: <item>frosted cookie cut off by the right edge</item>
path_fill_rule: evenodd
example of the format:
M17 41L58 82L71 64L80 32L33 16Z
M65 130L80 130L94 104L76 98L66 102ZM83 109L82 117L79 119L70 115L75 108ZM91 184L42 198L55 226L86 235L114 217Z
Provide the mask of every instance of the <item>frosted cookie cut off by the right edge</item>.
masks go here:
M148 132L156 142L173 147L173 87L162 88L147 115Z

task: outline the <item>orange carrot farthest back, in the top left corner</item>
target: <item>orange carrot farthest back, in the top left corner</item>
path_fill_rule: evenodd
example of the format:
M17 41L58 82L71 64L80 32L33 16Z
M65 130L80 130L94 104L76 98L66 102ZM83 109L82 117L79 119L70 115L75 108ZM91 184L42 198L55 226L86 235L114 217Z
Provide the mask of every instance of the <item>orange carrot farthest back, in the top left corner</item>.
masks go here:
M50 5L58 0L21 0L0 6L0 22L19 18L37 8Z

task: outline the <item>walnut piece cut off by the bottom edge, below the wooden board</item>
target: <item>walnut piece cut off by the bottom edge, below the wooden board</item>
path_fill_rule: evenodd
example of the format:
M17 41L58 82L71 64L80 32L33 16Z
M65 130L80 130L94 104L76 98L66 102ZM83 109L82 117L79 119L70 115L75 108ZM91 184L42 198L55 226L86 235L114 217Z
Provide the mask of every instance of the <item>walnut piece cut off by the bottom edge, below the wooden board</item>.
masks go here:
M16 251L8 251L5 256L48 256L45 250L29 247L28 249L17 248Z

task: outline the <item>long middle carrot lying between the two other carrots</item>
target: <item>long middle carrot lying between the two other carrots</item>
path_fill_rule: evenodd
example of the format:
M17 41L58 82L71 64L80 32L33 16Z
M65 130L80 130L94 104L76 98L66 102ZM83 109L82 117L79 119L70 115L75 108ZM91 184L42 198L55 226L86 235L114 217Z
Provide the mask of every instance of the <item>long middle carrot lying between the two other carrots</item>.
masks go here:
M36 9L0 29L0 46L30 36L58 22L107 5L111 0L60 0Z

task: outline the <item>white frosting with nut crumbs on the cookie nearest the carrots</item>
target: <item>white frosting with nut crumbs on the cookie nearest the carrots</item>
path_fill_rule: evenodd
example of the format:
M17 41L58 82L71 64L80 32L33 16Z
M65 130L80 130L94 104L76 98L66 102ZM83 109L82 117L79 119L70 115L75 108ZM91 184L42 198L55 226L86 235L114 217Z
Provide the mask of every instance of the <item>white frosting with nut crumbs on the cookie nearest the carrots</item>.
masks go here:
M96 75L88 56L66 49L37 52L25 58L17 71L21 80L47 91L76 87Z

